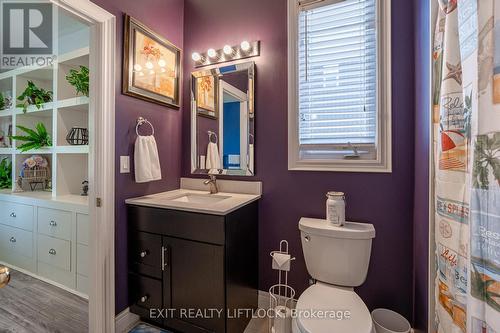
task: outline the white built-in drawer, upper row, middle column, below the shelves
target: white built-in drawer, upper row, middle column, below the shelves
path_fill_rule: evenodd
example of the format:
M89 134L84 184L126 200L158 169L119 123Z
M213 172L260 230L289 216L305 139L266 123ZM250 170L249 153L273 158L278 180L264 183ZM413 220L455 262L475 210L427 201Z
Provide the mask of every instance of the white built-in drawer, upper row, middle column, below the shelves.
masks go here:
M52 237L71 240L71 212L39 207L38 232Z

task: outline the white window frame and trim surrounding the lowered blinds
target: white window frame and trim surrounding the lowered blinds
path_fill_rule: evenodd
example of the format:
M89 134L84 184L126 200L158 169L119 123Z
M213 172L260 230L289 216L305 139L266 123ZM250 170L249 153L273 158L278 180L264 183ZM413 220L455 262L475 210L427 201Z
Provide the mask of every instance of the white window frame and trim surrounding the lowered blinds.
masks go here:
M310 1L310 7L344 0ZM391 140L391 0L377 1L377 134L375 158L301 159L298 108L299 0L288 0L288 170L340 172L392 172ZM309 1L308 1L309 2ZM334 148L335 145L329 146ZM338 149L337 145L337 149ZM347 143L342 146L347 146ZM328 147L328 146L327 146ZM373 145L356 145L360 151Z

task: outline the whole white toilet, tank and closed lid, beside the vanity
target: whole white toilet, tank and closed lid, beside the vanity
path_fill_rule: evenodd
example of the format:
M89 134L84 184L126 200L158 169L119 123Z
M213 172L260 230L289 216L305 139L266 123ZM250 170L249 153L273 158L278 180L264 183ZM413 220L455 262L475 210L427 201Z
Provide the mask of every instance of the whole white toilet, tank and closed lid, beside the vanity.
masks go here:
M316 283L299 297L293 333L375 332L368 308L353 290L366 279L373 225L346 222L336 227L326 220L301 218L299 229L307 270ZM312 317L314 310L329 312ZM349 319L340 319L345 311Z

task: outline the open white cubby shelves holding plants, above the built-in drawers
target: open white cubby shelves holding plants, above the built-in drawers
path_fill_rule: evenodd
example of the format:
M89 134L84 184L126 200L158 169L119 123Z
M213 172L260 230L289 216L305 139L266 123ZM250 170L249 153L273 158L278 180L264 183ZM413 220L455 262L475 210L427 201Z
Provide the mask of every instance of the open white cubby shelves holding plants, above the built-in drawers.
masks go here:
M0 111L0 130L5 137L9 125L12 133L19 134L17 125L34 128L39 122L43 123L51 133L52 147L21 152L18 147L22 142L13 140L11 146L0 146L0 160L9 158L13 161L13 186L20 174L23 161L31 155L41 155L49 161L51 170L52 190L41 193L51 200L64 197L65 202L81 204L81 183L88 180L88 153L89 147L72 146L66 142L66 135L72 127L89 127L89 99L77 95L76 90L66 81L66 75L71 69L80 66L89 66L89 48L77 48L58 56L53 66L44 68L18 68L0 73L0 91L4 96L12 97L12 107ZM17 108L16 96L25 89L28 80L38 87L53 92L53 101L45 103L40 109L30 105L26 113ZM0 133L1 136L1 133ZM7 143L10 140L5 139ZM25 191L30 189L23 185ZM2 193L5 193L3 191ZM13 194L15 195L15 194Z

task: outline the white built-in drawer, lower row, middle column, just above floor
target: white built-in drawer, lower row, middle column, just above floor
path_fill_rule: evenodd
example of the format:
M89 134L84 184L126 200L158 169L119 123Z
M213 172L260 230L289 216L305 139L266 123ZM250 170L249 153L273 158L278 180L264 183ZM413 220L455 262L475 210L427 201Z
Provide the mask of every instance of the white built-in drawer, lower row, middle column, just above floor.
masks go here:
M58 267L65 271L70 271L70 242L44 235L38 235L38 261Z

